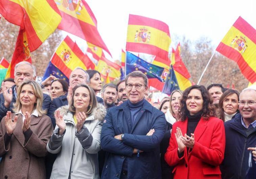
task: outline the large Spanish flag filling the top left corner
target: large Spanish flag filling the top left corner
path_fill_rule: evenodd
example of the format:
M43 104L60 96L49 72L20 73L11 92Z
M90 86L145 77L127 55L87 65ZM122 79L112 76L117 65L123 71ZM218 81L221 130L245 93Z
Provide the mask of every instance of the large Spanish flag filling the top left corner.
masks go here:
M1 0L0 14L25 30L30 52L36 50L61 21L53 0Z

